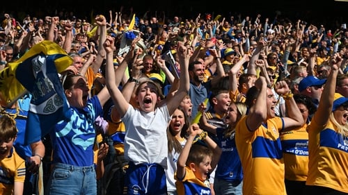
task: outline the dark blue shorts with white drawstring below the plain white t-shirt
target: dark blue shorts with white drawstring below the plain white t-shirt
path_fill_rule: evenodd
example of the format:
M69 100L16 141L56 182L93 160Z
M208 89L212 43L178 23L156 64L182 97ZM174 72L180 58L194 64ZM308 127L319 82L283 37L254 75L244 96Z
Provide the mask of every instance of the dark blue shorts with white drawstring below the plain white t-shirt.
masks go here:
M166 173L159 164L138 164L129 162L126 169L126 194L160 195L167 193Z

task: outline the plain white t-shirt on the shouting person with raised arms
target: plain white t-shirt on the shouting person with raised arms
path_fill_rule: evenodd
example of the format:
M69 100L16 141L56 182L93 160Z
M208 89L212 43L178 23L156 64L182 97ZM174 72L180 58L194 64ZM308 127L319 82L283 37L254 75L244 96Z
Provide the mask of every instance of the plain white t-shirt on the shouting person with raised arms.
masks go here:
M129 105L125 123L125 158L134 164L157 163L167 168L168 141L166 129L171 120L167 105L155 112L143 112Z

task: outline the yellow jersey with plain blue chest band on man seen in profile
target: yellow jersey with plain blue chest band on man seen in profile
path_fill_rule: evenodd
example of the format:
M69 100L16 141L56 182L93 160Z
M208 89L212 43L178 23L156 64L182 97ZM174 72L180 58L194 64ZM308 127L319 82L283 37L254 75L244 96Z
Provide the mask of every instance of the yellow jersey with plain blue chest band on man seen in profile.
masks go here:
M246 117L238 122L235 135L244 171L243 194L286 194L279 137L283 119L268 119L267 124L250 131L246 127Z

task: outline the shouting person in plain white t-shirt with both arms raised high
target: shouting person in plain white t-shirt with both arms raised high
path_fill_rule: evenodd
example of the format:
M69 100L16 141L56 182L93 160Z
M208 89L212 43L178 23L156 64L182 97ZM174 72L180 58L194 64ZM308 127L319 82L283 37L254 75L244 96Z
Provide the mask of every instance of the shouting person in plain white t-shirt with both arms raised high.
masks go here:
M166 194L166 174L168 145L166 127L171 115L189 90L189 58L187 48L179 45L180 87L171 99L164 99L159 105L161 90L152 80L145 80L136 87L136 107L129 104L116 85L113 67L112 37L104 42L106 50L106 86L122 121L125 123L125 158L129 160L129 168L125 176L127 194ZM133 55L133 49L128 55ZM127 57L126 58L129 58ZM134 60L141 65L141 60ZM127 65L127 63L121 63ZM120 67L118 67L120 69ZM116 71L118 71L116 69ZM122 69L121 69L122 70ZM132 78L127 85L136 85L138 78Z

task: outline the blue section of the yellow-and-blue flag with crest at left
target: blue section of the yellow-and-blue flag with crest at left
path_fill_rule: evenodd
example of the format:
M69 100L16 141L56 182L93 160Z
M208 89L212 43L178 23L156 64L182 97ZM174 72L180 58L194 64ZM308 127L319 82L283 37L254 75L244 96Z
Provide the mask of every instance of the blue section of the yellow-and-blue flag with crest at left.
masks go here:
M24 144L38 142L58 121L70 119L72 115L55 64L57 59L66 56L66 53L41 52L17 65L15 77L32 95Z

